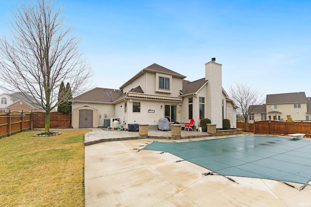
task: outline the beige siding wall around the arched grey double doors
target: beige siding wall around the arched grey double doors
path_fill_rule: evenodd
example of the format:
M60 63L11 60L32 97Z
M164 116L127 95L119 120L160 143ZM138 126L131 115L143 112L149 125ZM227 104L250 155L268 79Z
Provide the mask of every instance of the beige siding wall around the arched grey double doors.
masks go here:
M98 110L98 126L97 127L103 127L104 126L104 119L110 119L115 117L115 106L112 104L96 104L96 103L74 103L72 105L72 110L88 106L94 109ZM107 117L104 117L104 114L107 114ZM102 115L100 118L99 115ZM79 117L73 117L76 119L79 119Z

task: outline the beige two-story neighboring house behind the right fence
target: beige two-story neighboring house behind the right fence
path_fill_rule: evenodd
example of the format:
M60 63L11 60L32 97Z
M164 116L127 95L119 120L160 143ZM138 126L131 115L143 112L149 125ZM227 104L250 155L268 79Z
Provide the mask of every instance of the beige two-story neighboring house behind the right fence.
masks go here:
M266 104L252 111L249 122L267 120L286 121L290 116L294 121L311 121L311 100L305 92L271 94L266 96ZM266 117L264 117L264 112ZM259 118L259 113L261 118Z

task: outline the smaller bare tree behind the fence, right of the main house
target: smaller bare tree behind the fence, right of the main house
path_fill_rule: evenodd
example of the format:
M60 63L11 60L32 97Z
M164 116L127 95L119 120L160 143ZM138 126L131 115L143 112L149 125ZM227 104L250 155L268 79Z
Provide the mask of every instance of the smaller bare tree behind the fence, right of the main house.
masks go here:
M237 112L242 114L244 120L244 131L247 131L247 120L250 113L263 103L262 94L260 94L259 89L253 89L246 84L241 84L235 82L234 86L230 86L230 98L239 107ZM250 107L251 106L251 107Z

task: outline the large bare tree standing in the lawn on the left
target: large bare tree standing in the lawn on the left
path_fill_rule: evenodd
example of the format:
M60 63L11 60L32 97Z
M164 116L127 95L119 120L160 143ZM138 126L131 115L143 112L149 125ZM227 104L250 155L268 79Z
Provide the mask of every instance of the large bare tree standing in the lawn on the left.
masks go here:
M34 97L46 111L49 132L50 112L67 101L58 100L61 82L69 82L73 95L82 93L90 86L90 65L78 51L72 28L65 27L61 8L52 1L21 3L9 26L10 34L0 39L3 90Z

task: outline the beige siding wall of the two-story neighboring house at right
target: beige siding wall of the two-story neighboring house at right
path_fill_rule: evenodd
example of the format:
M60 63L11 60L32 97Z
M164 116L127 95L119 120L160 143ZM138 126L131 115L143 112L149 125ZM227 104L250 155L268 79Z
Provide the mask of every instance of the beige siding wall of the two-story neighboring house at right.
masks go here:
M287 115L290 115L294 121L306 120L307 103L300 103L300 108L294 108L294 103L276 104L276 109L271 109L272 105L274 104L267 104L267 119L271 116L271 120L273 120L273 116L275 116L275 114L269 113L270 111L279 111L281 114L276 114L276 116L280 116L283 121L287 120Z

